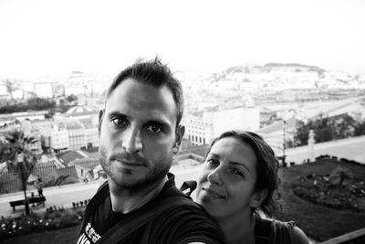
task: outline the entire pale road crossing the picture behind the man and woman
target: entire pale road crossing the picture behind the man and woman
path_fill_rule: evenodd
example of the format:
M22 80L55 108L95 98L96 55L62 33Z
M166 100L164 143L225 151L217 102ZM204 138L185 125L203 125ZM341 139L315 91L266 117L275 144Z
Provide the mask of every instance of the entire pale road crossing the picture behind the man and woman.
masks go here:
M328 143L318 143L315 145L315 156L320 154L329 154L348 159L356 160L365 164L365 136L356 138L349 138ZM308 158L308 146L301 146L297 148L287 149L287 162L302 163L303 159ZM176 186L180 187L183 181L196 180L199 168L172 168L172 173L176 175ZM91 198L102 184L103 180L79 183L68 186L56 186L44 189L44 196L46 196L46 206L31 207L32 211L44 211L47 207L71 207L72 202L84 201ZM28 193L30 195L30 193ZM35 192L36 194L36 192ZM24 199L23 192L13 194L6 194L0 196L0 216L8 217L10 215L20 215L24 213L24 207L16 207L16 213L13 213L9 202L13 200Z

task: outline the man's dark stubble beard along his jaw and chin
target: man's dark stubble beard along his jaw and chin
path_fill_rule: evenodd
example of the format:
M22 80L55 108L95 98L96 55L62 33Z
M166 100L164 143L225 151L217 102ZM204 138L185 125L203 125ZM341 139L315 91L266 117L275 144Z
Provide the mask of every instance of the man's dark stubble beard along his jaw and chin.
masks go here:
M132 169L124 169L123 174L130 175L134 180L131 182L123 181L120 178L120 173L115 174L112 172L110 168L110 158L106 155L106 150L100 146L99 151L99 163L103 170L109 175L110 179L116 186L119 186L120 189L128 189L130 191L139 191L145 189L146 187L157 185L162 181L162 179L168 174L170 167L172 165L172 153L170 155L166 155L163 157L162 162L152 162L148 167L148 171L144 178L136 179L138 175L133 173Z

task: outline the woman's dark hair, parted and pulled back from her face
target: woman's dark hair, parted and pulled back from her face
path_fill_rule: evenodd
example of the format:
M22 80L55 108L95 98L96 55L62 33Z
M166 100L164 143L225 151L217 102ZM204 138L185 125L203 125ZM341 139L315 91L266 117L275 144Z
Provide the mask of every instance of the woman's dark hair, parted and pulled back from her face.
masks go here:
M278 208L278 204L274 199L274 193L276 192L277 196L280 197L280 194L277 191L277 186L280 183L280 179L277 175L279 162L276 159L273 149L256 133L229 131L222 133L214 139L208 148L207 154L211 151L214 143L226 137L234 137L241 142L248 143L254 150L257 159L255 190L267 190L267 196L258 208L261 209L266 216L271 217L273 212ZM253 210L253 213L258 215L257 209Z

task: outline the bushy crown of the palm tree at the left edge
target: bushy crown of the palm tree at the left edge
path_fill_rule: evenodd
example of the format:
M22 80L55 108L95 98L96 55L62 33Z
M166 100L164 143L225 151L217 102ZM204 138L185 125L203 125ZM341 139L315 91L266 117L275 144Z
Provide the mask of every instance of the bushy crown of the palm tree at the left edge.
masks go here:
M23 154L23 169L25 178L32 173L36 166L36 155L30 145L36 143L34 137L26 137L22 131L12 131L5 136L5 142L0 142L0 162L6 162L9 172L18 174L21 164L17 162L17 155Z

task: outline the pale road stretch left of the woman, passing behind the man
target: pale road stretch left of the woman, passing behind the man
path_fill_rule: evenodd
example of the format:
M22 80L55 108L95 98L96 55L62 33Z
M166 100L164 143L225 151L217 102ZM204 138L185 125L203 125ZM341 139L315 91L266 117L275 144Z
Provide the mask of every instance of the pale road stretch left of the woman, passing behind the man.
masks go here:
M173 169L172 173L175 175L176 186L180 187L183 181L196 180L198 175L199 167L192 168L179 168ZM72 207L72 202L84 201L91 198L98 190L99 186L104 180L89 182L89 183L78 183L67 186L56 186L44 188L43 195L46 196L46 204L43 206L29 206L31 211L39 212L44 211L47 207ZM36 192L35 192L36 194ZM30 193L28 192L28 195ZM16 207L16 212L13 213L13 208L10 207L9 202L14 200L24 199L23 192L17 192L13 194L6 194L0 196L0 216L18 216L25 212L24 206Z

